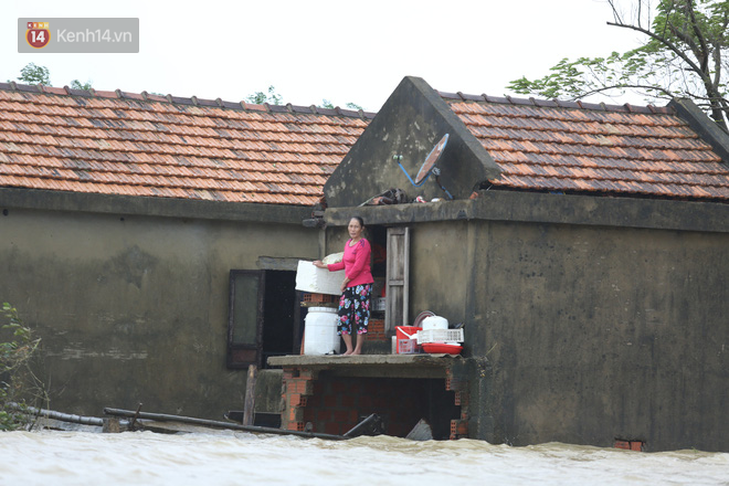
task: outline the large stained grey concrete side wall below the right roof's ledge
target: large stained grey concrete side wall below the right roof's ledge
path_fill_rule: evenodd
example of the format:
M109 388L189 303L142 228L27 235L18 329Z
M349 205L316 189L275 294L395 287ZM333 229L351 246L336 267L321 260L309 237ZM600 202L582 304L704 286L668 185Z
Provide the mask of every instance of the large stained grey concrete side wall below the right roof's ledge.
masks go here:
M473 224L496 436L729 450L729 234Z

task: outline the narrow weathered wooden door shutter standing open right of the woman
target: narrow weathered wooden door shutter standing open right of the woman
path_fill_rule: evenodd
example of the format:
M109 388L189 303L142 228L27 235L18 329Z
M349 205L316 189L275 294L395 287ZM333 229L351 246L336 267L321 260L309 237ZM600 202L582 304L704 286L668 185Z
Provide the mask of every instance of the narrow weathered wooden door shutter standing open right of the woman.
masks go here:
M387 305L384 330L393 332L395 326L409 326L410 289L410 228L388 228L388 263L385 273Z

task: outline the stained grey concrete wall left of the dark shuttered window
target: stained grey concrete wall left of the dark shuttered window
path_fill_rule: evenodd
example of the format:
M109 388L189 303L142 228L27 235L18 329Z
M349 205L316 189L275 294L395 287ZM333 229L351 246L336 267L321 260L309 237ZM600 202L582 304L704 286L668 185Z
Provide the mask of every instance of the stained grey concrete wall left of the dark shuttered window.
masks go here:
M67 413L241 409L246 372L225 367L230 270L318 256L318 232L296 214L265 224L180 208L146 216L134 203L101 213L0 203L0 298L43 339L51 408Z

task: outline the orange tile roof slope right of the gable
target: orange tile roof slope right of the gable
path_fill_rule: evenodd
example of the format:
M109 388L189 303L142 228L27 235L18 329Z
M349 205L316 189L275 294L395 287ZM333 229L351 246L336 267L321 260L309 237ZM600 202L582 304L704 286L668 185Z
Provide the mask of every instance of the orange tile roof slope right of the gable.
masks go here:
M729 200L729 165L669 107L439 94L501 169L495 188Z

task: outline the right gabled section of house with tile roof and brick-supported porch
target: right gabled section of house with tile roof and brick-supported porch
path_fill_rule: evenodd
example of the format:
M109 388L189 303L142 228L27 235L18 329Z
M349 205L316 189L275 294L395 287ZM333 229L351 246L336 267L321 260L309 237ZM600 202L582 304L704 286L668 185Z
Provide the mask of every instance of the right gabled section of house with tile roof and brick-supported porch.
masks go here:
M427 309L464 324L463 358L271 358L292 383L284 426L374 411L398 433L423 416L492 443L729 450L728 157L688 101L404 78L327 180L326 253L361 215L388 249L385 337ZM388 188L435 202L360 207Z

